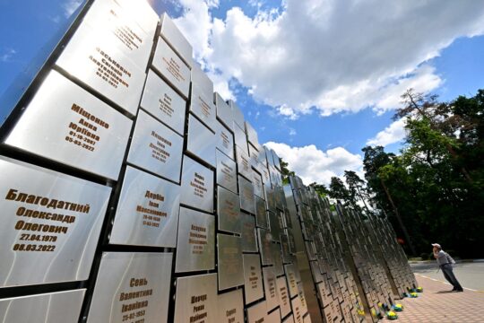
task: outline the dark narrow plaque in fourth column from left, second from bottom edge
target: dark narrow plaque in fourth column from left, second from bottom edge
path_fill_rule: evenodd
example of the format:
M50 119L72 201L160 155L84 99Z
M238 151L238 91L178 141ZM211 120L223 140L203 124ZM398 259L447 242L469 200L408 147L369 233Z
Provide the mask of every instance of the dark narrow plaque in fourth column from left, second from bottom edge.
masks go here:
M239 237L217 234L219 291L244 284L242 241Z

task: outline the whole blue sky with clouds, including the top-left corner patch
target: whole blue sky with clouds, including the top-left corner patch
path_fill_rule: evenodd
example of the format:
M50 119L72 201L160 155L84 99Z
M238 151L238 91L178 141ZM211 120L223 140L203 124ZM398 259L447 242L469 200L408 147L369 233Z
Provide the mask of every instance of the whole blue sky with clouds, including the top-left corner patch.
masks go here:
M140 0L138 0L140 1ZM151 0L225 99L306 183L361 170L361 148L398 152L408 88L441 100L484 88L476 0ZM81 0L0 0L0 92Z

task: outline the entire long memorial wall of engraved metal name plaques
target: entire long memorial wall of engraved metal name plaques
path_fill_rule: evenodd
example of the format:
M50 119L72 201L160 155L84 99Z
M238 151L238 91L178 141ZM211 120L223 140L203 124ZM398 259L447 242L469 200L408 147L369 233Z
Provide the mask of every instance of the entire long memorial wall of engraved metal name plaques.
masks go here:
M147 2L88 1L1 107L0 321L360 322L414 286L192 57Z

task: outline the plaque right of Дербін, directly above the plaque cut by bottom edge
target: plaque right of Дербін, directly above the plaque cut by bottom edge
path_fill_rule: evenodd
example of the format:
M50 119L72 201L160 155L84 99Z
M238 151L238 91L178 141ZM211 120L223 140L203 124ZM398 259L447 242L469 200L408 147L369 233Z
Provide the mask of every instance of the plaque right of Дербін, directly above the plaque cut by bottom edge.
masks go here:
M180 207L175 272L215 267L215 217Z

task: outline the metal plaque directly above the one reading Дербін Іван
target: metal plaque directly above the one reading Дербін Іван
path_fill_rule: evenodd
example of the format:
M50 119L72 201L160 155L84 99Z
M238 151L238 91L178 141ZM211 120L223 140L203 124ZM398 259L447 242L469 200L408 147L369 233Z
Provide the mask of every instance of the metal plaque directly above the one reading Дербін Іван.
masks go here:
M127 162L179 183L182 149L181 135L139 111Z

